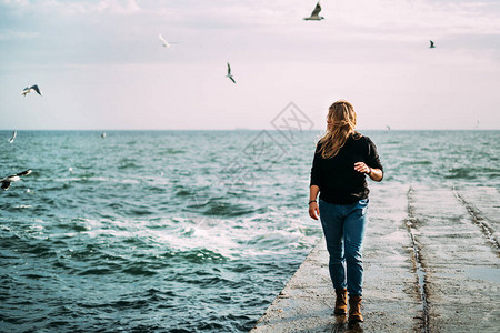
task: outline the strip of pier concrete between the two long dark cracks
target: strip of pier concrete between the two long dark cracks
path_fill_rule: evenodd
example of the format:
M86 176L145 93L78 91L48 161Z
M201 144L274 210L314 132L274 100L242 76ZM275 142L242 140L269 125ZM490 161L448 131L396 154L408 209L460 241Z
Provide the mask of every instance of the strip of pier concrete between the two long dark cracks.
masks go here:
M461 193L473 200L482 196L477 195L481 189L463 189ZM498 205L498 191L490 200ZM492 214L493 206L476 201L471 204L481 206L484 215ZM498 249L449 189L417 188L410 194L410 205L427 273L429 331L500 332Z

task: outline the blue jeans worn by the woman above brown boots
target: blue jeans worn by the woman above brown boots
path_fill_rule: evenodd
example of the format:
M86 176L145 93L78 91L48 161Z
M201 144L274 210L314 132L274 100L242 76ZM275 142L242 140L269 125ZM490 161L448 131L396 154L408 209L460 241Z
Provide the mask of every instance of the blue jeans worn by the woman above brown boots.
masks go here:
M367 224L368 199L352 204L332 204L320 199L319 210L334 289L347 287L350 296L362 295L361 245Z

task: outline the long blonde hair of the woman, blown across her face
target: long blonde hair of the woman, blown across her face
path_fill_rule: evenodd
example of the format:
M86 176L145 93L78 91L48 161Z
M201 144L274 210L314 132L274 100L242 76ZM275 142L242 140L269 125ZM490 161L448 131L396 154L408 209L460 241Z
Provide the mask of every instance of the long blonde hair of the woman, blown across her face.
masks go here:
M323 159L337 155L350 135L354 139L361 138L361 134L356 132L354 107L348 101L340 100L331 104L327 119L331 120L331 128L327 128L327 133L319 141L319 152Z

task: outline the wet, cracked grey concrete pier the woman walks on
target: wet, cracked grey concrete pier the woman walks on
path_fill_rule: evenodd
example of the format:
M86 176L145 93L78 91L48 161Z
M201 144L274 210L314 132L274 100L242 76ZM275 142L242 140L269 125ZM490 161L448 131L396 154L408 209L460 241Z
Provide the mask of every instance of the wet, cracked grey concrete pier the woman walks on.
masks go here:
M333 315L322 239L251 332L500 332L499 191L371 189L364 323Z

